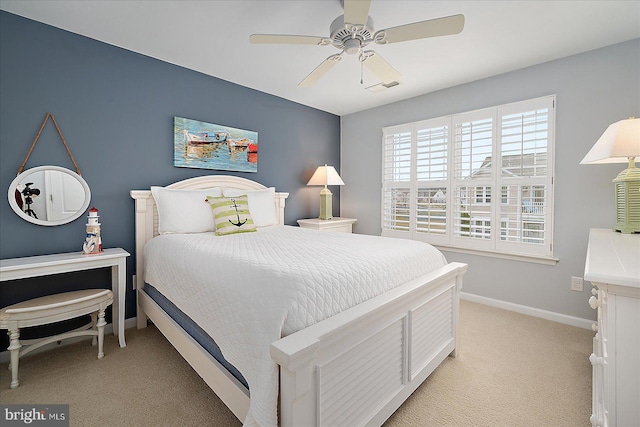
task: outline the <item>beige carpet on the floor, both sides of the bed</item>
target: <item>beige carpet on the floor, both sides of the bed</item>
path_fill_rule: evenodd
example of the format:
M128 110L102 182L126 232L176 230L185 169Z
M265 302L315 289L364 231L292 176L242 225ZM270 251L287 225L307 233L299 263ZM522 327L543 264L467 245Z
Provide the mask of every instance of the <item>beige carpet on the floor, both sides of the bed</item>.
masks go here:
M447 358L387 420L396 426L585 426L593 332L461 301L457 357ZM155 328L0 365L0 402L70 405L71 426L240 426ZM343 427L343 426L340 426ZM346 427L346 426L344 426Z

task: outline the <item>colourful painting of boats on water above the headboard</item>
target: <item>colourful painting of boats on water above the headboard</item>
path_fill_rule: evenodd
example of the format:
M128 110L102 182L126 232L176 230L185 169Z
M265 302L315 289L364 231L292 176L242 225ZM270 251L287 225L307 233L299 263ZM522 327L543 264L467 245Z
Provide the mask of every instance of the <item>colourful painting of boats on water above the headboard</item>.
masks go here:
M258 133L174 117L176 167L258 172Z

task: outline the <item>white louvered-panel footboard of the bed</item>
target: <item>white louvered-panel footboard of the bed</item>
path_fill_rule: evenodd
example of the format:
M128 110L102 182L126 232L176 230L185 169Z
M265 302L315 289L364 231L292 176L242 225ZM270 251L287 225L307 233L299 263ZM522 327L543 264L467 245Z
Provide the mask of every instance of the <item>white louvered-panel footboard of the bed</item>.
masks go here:
M450 263L274 342L280 425L381 425L455 356L466 269Z

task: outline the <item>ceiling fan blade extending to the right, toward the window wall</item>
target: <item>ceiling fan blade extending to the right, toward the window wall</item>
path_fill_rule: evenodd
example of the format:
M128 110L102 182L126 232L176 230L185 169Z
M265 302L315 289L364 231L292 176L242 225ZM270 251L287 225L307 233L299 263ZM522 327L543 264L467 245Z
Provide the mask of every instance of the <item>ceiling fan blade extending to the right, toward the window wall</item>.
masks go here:
M373 38L379 44L397 43L458 34L463 28L464 15L451 15L380 30Z

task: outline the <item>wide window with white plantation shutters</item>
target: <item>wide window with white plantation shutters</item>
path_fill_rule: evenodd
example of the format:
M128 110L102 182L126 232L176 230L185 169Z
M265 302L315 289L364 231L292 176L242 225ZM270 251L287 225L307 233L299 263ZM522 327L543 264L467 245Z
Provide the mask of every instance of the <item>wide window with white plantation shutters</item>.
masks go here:
M553 257L555 96L383 128L382 234Z

